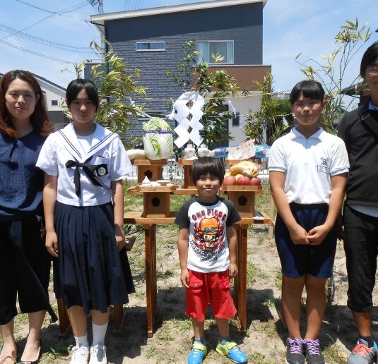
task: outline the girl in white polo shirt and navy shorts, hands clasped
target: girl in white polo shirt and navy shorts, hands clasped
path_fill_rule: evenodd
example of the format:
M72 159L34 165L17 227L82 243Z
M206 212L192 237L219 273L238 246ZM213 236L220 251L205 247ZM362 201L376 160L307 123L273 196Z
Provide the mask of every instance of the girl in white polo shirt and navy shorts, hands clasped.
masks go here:
M341 138L321 128L324 90L314 80L297 83L290 104L297 126L273 142L269 181L278 214L276 245L283 272L282 311L288 325L286 363L324 363L317 339L326 310L326 280L336 253L336 219L348 173ZM306 287L307 331L300 333Z

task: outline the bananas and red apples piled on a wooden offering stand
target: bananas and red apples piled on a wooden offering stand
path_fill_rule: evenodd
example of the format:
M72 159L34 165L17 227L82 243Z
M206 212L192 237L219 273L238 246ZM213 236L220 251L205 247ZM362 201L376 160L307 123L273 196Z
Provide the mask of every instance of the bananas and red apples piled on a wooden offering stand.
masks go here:
M260 186L259 167L250 161L242 161L230 166L225 174L223 184L225 186Z

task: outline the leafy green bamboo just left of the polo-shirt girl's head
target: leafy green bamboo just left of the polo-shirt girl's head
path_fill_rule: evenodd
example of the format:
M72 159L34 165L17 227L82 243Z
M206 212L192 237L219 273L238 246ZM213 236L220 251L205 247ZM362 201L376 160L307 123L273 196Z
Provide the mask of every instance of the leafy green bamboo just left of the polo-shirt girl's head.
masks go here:
M256 111L249 109L249 114L244 124L244 133L257 144L271 145L274 140L286 133L293 126L290 102L288 99L272 97L273 75L266 73L264 81L255 81L256 90L261 91L260 107ZM289 126L283 123L283 116Z

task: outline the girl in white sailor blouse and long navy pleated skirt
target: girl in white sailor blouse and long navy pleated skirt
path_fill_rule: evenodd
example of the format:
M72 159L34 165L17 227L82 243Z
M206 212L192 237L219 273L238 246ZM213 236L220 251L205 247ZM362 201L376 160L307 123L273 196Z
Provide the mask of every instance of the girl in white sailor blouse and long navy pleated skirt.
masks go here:
M71 363L88 363L89 356L90 363L107 363L110 305L127 303L134 292L124 249L122 186L132 167L119 135L94 122L99 98L90 80L71 81L66 104L73 122L47 138L37 161L45 171L46 247L58 258L57 290L76 340Z

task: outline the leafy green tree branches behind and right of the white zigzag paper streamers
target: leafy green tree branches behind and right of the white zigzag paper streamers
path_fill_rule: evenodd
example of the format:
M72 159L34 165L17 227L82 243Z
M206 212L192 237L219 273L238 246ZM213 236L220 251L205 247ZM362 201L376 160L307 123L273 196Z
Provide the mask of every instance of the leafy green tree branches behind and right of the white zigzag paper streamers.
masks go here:
M199 53L194 42L185 42L183 47L185 56L177 65L178 71L167 71L165 74L181 89L197 90L206 99L200 134L210 149L226 146L232 140L228 132L228 120L234 114L228 110L225 99L237 92L235 79L224 70L211 71L208 63L197 63L196 56ZM223 57L218 54L212 54L212 58L214 62L223 61Z

